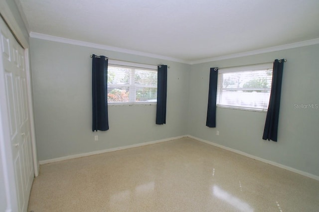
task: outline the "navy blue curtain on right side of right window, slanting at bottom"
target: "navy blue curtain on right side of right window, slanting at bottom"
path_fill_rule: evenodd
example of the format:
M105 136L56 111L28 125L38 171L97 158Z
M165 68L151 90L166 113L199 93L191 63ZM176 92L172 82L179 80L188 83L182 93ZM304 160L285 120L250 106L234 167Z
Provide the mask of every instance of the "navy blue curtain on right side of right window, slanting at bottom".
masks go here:
M275 60L263 139L277 141L281 84L285 60Z

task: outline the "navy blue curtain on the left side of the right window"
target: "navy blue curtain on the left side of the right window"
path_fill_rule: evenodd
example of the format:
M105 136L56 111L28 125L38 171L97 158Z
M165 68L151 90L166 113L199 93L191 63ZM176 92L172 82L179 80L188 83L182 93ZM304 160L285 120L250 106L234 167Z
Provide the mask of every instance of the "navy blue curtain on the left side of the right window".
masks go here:
M216 95L218 68L210 68L206 126L216 127Z

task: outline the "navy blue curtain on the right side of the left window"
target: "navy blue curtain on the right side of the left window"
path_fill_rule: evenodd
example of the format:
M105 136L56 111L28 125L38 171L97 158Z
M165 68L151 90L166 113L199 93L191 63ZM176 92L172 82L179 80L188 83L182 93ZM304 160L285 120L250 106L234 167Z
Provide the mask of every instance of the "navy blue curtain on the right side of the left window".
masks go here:
M158 66L158 102L156 124L166 123L167 66Z

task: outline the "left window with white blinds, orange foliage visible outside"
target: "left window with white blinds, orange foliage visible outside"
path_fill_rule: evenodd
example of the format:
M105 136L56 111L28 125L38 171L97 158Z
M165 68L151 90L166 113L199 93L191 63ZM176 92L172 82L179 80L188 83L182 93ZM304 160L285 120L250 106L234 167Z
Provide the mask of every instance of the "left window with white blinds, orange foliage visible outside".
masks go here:
M156 103L157 66L109 60L108 103Z

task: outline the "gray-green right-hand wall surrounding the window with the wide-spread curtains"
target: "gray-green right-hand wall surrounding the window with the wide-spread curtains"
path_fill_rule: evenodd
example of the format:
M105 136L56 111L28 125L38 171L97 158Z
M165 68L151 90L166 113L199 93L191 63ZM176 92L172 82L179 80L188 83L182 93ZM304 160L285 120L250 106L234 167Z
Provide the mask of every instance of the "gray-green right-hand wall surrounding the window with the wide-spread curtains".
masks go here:
M205 126L209 68L287 59L284 65L278 142L262 139L266 112L217 107L216 128ZM191 66L189 135L319 176L319 45ZM219 135L216 135L216 130Z

